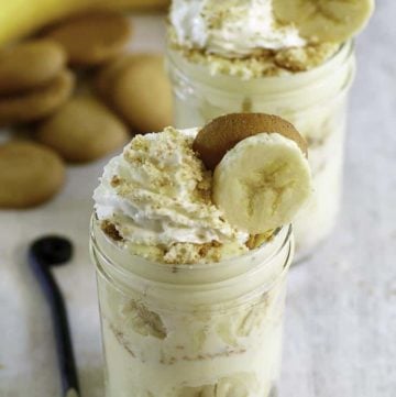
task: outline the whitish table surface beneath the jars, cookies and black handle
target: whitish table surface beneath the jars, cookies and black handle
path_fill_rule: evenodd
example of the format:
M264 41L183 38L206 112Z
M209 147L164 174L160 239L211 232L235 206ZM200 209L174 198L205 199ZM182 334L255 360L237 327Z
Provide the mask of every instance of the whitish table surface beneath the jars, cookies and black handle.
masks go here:
M342 212L332 238L290 272L280 397L396 396L395 15L396 3L380 0L358 41ZM162 51L162 19L133 20L133 49ZM48 205L0 211L0 397L61 396L48 309L26 265L28 243L44 233L75 243L73 262L55 273L81 395L103 396L88 222L106 162L68 167Z

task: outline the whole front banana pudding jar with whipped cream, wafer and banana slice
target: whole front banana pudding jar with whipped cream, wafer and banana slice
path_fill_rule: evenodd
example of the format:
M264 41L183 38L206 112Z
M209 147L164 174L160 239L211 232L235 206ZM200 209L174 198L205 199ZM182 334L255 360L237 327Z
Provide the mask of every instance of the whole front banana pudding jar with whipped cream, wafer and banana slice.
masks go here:
M288 122L239 113L136 135L105 167L90 246L107 397L276 396L306 155Z

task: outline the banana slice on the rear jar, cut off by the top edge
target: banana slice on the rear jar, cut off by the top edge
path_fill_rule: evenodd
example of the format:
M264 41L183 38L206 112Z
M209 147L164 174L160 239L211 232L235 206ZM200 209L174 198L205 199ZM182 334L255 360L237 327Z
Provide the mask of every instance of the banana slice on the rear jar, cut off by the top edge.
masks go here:
M367 23L374 0L273 0L275 18L294 23L302 37L343 42Z

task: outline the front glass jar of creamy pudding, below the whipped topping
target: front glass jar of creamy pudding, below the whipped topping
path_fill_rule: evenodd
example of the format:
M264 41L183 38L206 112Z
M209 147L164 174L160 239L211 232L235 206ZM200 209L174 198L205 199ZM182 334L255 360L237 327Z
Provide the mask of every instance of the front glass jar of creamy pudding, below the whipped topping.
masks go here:
M274 397L292 228L249 254L165 265L92 220L107 397Z

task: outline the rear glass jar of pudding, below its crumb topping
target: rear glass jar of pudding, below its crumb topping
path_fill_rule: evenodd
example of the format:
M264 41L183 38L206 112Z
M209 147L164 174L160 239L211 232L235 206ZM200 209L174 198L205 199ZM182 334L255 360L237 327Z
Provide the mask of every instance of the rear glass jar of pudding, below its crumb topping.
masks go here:
M233 112L265 112L290 121L309 144L315 191L294 223L301 258L332 230L340 207L346 99L355 71L352 42L323 65L302 73L242 79L211 75L168 49L177 128L204 125Z

